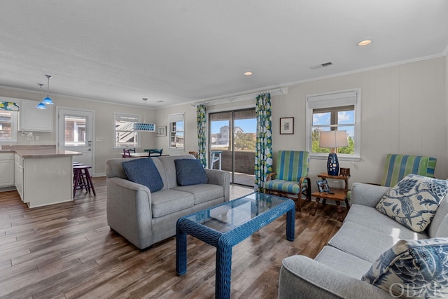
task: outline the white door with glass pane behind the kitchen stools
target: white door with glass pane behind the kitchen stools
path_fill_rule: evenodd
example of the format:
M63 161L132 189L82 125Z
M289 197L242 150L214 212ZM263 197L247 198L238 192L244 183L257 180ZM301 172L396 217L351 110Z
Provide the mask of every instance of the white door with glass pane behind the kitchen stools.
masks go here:
M73 155L73 161L92 166L94 174L94 112L57 108L57 119L57 147L83 153Z

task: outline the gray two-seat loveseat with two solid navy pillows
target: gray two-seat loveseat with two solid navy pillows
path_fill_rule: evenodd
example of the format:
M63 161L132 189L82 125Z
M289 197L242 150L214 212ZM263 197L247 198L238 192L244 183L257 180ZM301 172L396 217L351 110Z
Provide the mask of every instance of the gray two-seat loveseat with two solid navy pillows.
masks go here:
M107 223L139 249L176 235L182 216L229 201L228 172L205 169L208 183L177 184L174 160L194 159L191 155L144 158L153 159L162 177L164 186L154 193L127 179L122 162L132 159L106 161Z

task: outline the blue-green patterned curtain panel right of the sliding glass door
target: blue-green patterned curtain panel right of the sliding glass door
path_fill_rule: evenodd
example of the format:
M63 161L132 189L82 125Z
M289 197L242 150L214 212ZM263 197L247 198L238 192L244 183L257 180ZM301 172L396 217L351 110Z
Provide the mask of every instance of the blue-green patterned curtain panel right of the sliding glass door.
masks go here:
M255 105L257 139L255 141L255 191L265 191L267 174L272 172L271 95L259 95Z

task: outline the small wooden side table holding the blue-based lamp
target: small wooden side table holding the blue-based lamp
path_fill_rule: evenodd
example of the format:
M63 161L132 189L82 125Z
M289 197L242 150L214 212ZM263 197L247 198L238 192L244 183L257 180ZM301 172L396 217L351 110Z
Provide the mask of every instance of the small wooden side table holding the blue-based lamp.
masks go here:
M318 207L319 201L321 198L323 199L323 204L325 204L326 200L335 200L337 213L339 214L339 220L343 221L344 217L342 216L341 202L345 202L347 209L350 209L349 200L347 199L347 192L349 191L349 178L350 176L330 176L325 172L318 175L318 177L322 179L337 179L343 180L345 185L344 188L330 188L330 193L327 192L319 192L314 191L311 193L311 196L316 197L316 202L314 202L313 210L311 211L311 216L316 215L316 209Z

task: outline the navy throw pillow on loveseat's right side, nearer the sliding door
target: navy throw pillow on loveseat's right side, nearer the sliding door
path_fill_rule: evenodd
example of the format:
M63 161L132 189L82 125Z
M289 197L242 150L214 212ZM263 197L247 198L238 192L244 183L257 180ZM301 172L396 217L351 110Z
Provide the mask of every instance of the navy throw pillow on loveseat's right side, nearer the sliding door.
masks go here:
M177 183L179 186L197 185L198 183L207 183L209 178L205 173L204 166L197 159L176 159Z

